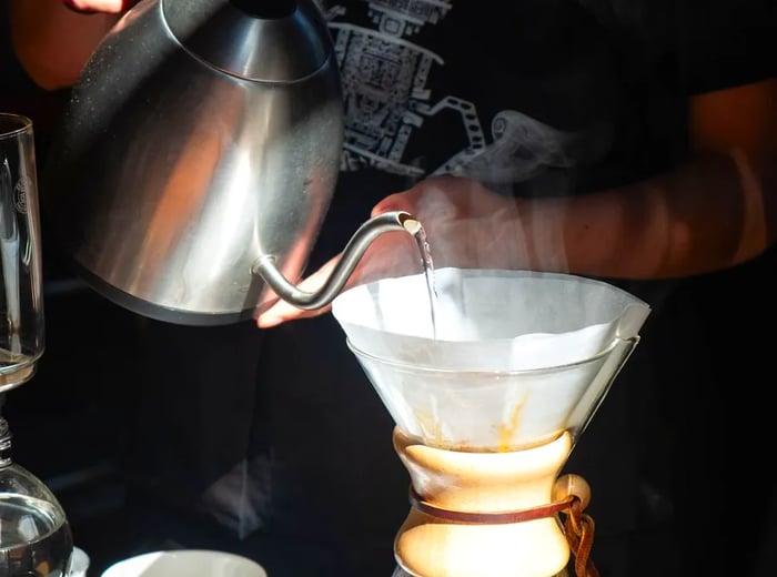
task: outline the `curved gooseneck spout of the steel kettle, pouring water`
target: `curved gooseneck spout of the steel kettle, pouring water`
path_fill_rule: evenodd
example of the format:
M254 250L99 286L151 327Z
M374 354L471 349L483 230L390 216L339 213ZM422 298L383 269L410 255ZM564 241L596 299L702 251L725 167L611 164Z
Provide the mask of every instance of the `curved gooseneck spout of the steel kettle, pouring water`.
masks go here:
M412 214L404 211L385 212L373 216L351 236L334 270L324 284L314 292L304 291L289 282L278 270L275 257L272 255L260 256L252 271L261 276L279 297L297 308L307 311L323 308L337 296L364 252L375 239L386 232L404 231L415 234L420 229L421 223Z

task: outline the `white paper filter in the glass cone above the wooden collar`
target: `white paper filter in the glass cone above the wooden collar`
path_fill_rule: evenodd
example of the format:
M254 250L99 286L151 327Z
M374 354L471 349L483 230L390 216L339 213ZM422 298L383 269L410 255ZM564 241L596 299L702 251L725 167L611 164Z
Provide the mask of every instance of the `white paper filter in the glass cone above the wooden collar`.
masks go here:
M423 274L345 291L332 312L397 426L507 451L579 432L649 307L568 274L441 269L437 338Z

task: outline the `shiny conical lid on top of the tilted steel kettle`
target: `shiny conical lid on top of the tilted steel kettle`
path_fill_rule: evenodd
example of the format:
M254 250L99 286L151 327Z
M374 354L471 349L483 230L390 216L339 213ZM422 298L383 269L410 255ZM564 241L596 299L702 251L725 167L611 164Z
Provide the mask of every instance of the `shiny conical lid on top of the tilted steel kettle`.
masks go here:
M294 82L317 71L332 52L314 0L162 0L161 4L170 32L188 52L242 79Z

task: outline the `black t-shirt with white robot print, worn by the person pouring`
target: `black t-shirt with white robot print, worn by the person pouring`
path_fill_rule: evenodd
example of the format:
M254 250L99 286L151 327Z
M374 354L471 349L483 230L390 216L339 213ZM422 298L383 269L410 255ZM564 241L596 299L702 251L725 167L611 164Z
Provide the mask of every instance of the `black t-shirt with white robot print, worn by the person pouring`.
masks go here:
M405 183L460 172L565 194L638 180L686 154L688 94L775 73L766 1L332 1L327 14L345 171Z

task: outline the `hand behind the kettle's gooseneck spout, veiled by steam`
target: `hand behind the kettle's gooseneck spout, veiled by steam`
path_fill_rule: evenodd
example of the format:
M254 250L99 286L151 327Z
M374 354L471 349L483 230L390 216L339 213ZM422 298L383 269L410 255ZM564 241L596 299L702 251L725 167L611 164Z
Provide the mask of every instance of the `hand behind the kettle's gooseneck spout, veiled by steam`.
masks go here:
M516 201L500 196L463 178L435 176L383 199L372 215L406 211L424 227L435 267L511 267L525 264ZM297 286L315 292L341 255L333 257ZM372 243L349 277L345 288L389 276L422 272L415 240L402 232L386 233ZM303 311L285 301L261 312L256 324L266 328L329 312L331 306Z

